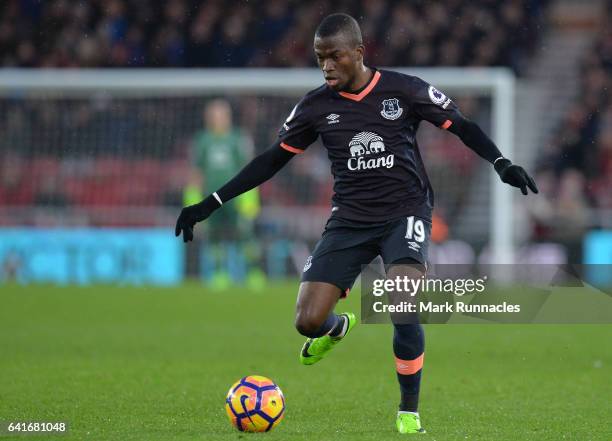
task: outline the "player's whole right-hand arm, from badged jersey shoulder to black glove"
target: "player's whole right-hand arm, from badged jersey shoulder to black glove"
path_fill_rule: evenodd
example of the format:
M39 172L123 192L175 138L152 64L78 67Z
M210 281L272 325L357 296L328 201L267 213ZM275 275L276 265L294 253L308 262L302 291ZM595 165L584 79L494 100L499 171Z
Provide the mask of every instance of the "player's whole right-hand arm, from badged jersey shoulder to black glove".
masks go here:
M466 146L493 164L495 171L506 184L520 188L525 195L528 188L534 193L538 192L533 178L523 167L504 158L478 124L465 118L456 104L444 93L417 77L412 77L407 87L410 90L413 111L419 118L457 135Z

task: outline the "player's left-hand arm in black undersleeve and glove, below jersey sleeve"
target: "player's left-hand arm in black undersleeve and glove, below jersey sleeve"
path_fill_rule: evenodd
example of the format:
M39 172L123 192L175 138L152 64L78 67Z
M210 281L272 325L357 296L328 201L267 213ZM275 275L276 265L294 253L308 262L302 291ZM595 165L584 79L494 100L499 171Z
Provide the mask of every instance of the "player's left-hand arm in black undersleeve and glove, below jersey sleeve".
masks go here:
M203 201L185 207L176 221L175 235L183 233L183 242L193 240L193 227L206 220L217 208L236 196L263 184L276 174L296 153L281 146L271 145L266 151L253 158L236 176Z

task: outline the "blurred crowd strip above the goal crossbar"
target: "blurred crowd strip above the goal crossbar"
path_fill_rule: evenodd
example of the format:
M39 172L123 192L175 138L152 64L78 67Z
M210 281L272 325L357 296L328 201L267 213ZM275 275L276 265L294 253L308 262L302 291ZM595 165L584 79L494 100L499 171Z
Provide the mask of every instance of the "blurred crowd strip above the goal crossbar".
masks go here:
M311 66L332 12L361 23L378 66L520 71L547 0L4 0L0 64L16 67Z

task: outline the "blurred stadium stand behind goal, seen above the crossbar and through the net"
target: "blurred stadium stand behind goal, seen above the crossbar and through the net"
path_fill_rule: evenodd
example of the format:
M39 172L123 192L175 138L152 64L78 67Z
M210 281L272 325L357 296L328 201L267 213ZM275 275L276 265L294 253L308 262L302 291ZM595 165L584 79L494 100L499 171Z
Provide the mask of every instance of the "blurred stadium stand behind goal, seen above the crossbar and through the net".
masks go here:
M360 19L372 65L506 65L520 74L541 34L547 3L339 1L333 11ZM0 6L0 63L314 66L314 27L333 11L322 1L266 0L255 6L217 0L8 0ZM458 101L467 115L489 126L490 103L476 97ZM232 107L236 124L262 149L294 104L294 98L244 96ZM0 204L71 209L72 216L61 218L74 224L166 225L169 216L144 208L165 206L174 213L182 203L189 143L201 127L204 105L201 97L2 100L0 152L10 171L2 174ZM462 187L452 182L468 185L478 159L446 133L424 130L420 137L428 146L424 156L433 185L443 188L437 192L440 215L452 219L465 203ZM331 179L322 149L317 150L265 184L263 203L326 210ZM52 222L47 216L20 217L19 210L3 213L1 224ZM312 229L313 237L318 233L318 227Z

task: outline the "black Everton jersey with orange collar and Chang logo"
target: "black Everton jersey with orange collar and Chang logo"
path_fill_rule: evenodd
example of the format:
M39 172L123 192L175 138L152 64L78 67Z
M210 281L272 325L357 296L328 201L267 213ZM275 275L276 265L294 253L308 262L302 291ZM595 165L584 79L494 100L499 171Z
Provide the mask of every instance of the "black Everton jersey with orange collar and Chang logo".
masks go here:
M430 220L433 191L416 132L422 120L448 129L458 118L453 101L420 78L374 70L359 93L327 85L307 93L280 129L279 141L301 153L321 136L334 177L333 217Z

